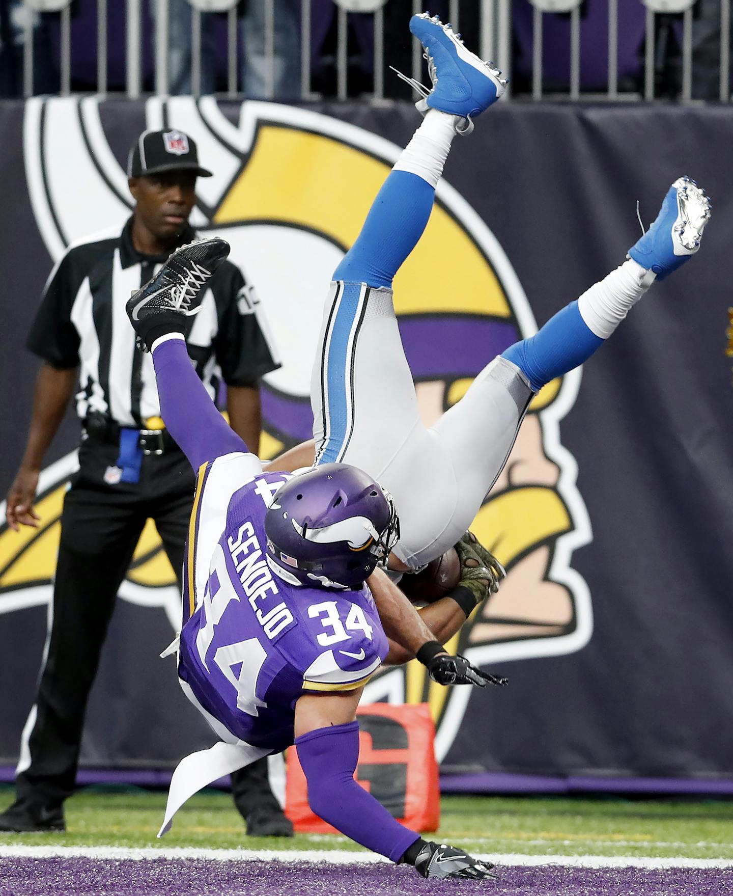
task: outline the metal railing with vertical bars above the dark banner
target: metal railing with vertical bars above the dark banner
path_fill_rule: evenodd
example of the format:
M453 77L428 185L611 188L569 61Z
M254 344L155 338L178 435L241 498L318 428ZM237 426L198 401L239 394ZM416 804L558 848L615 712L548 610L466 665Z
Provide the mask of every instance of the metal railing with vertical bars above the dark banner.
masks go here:
M34 92L34 30L45 20L57 17L57 42L58 42L58 83L62 95L72 91L72 0L4 0L5 3L25 7L24 13L24 41L22 53L22 84L26 97ZM204 82L210 82L211 60L207 56L205 46L210 41L212 22L218 17L219 21L226 21L226 53L218 56L226 56L226 89L223 92L227 97L236 98L244 92L251 96L251 90L243 85L243 53L241 43L243 30L241 30L241 13L237 9L237 0L114 0L115 4L124 5L124 58L125 72L124 84L116 79L116 90L122 91L131 98L140 97L145 91L154 90L158 94L167 94L172 89L172 81L181 80L181 71L172 73L172 50L178 52L178 56L187 59L188 70L184 80L187 83L185 90L193 95L200 95L204 90ZM112 81L109 77L109 52L111 40L121 41L122 35L111 34L109 21L111 10L108 9L109 0L88 0L83 6L83 14L90 16L95 10L96 4L96 84L85 85L84 89L95 89L98 93L107 93ZM332 22L330 28L332 43L335 42L335 51L329 51L333 56L333 70L335 71L335 85L333 94L338 99L346 99L354 95L350 81L354 63L354 25L359 26L360 36L371 35L371 51L364 49L362 45L368 45L369 39L360 43L359 56L362 67L371 73L371 90L358 90L360 95L366 92L373 100L385 99L385 60L388 54L390 35L386 28L386 16L392 0L371 0L370 4L358 4L361 8L369 5L371 13L354 13L357 4L355 0L333 0L327 12L324 13L325 4L318 4L318 13L314 9L311 0L300 0L298 4L294 0L250 0L249 7L257 11L257 29L251 22L247 23L247 34L254 35L253 39L261 45L263 59L261 83L255 94L259 99L277 99L280 95L278 87L278 69L287 62L290 57L299 55L295 93L301 99L312 99L314 60L318 65L318 53L320 47L313 43L314 28L320 33L323 41L324 14L330 15ZM730 99L730 3L731 0L720 0L720 58L717 99L729 101ZM678 97L682 100L693 99L694 72L695 72L695 44L694 44L694 7L695 0L586 0L583 7L582 0L434 0L432 4L428 0L413 0L410 9L409 0L400 0L400 10L405 13L420 12L424 4L431 8L441 7L440 13L448 16L453 22L455 30L465 22L465 27L470 28L466 34L470 44L485 58L496 59L504 73L510 79L509 96L521 96L526 99L541 100L551 94L553 97L563 97L571 100L580 99L592 92L593 99L618 100L622 96L652 100L657 99L659 90L657 87L658 72L661 60L660 23L663 22L663 33L678 35L679 57L681 59L681 75L679 77ZM633 7L630 4L635 4ZM596 85L589 90L583 80L584 69L584 14L587 9L595 15L599 7L607 7L607 22L605 31L605 49L608 53L608 66L605 84L599 90ZM276 8L277 7L277 8ZM584 12L585 11L585 12ZM641 39L636 37L639 43L639 77L637 87L629 90L619 88L619 50L626 47L626 41L635 39L629 34L626 27L631 13L642 22L643 33ZM706 13L710 17L710 13ZM172 19L180 22L185 15L186 21L190 18L190 30L183 29L183 38L180 28L178 35L172 43ZM284 47L278 37L278 22L280 17L288 15L297 17L297 22L291 22L299 31L299 38L295 46L293 39ZM557 78L548 85L547 61L558 63L558 46L550 42L548 53L548 41L544 37L546 24L551 22L553 27L558 25L561 19L567 20L567 84L558 88ZM523 26L524 22L524 27ZM713 22L713 26L717 27ZM524 30L522 30L524 27ZM563 25L562 27L566 27ZM328 28L326 29L328 30ZM219 31L221 27L219 26ZM555 27L557 33L557 27ZM524 35L524 38L523 38ZM529 39L527 38L529 35ZM252 39L250 37L250 39ZM516 81L512 78L513 68L517 64L517 45L522 44L526 57L531 60L530 71L519 67ZM143 70L143 47L148 40L154 47L152 71ZM563 39L565 41L565 39ZM591 48L596 55L601 53L603 40L598 32L592 35L595 42ZM404 44L404 36L400 37ZM596 47L595 45L599 45ZM642 48L643 47L643 48ZM627 48L627 47L626 47ZM519 56L524 51L520 46ZM514 51L514 58L513 58ZM590 51L589 51L590 52ZM666 53L667 50L664 50ZM366 56L371 58L367 59ZM292 62L292 59L290 59ZM425 73L422 63L421 47L417 41L413 41L412 53L407 65L411 65L413 78L423 81ZM179 65L180 69L180 65ZM173 77L175 74L175 78ZM204 77L206 76L206 77ZM219 86L222 79L219 78ZM244 90L243 90L244 86ZM299 89L298 89L299 88ZM390 92L393 88L390 84ZM320 90L321 93L325 92Z

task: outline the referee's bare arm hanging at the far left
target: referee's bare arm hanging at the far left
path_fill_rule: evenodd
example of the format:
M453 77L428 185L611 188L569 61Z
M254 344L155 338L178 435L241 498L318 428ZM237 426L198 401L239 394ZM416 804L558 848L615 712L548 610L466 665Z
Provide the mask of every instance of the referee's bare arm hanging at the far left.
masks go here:
M41 463L64 418L75 383L75 366L59 369L46 362L38 371L28 441L20 469L13 479L5 504L5 519L10 528L16 532L19 526L38 528L38 516L33 510L33 501L36 497Z

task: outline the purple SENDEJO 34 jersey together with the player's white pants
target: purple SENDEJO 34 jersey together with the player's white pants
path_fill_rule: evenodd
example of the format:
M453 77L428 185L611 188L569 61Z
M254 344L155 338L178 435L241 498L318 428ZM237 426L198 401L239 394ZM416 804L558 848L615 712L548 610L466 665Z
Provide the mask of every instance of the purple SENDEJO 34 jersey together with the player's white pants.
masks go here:
M293 743L300 696L361 687L388 652L368 587L296 587L270 568L265 514L287 478L251 454L201 468L178 666L220 736L272 751Z

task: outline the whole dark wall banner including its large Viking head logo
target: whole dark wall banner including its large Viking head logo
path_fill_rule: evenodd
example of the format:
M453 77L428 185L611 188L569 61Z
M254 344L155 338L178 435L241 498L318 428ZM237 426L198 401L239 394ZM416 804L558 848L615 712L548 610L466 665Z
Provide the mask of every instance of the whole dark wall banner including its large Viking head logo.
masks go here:
M43 282L66 246L129 216L125 163L145 128L165 131L173 152L185 134L198 143L214 176L197 185L192 223L226 237L254 284L239 312L267 312L283 366L262 383L263 455L310 435L328 280L419 123L409 104L318 108L0 104L0 188L12 215L0 243L0 494L30 417L37 365L21 347ZM729 172L716 147L730 137L733 113L717 108L499 103L456 141L428 228L395 282L425 422L535 332L535 318L623 261L638 235L637 199L652 220L669 183L688 173L724 204ZM450 645L506 674L509 687L446 690L416 663L368 685L370 701L429 704L450 780L481 787L509 773L563 788L591 776L596 787L628 787L661 776L722 788L733 779L718 734L733 714L733 414L722 351L731 239L733 222L720 215L699 258L655 284L584 366L582 387L574 371L533 401L473 523L507 580ZM78 433L67 420L48 454L39 529L0 528L0 680L13 681L0 701L0 767L16 761L33 702ZM173 661L158 659L179 624L174 582L149 523L102 651L82 764L166 768L210 743Z

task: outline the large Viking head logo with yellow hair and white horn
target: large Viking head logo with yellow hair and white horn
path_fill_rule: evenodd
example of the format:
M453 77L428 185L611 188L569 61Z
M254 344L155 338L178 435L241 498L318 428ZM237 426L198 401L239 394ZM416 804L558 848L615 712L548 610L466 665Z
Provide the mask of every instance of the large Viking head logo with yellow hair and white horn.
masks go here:
M311 361L328 280L399 148L333 117L254 102L232 121L213 100L151 100L144 124L166 128L166 149L173 153L187 150L185 134L191 134L214 172L199 182L193 222L202 234L226 237L256 285L256 294L242 297L240 312L251 313L260 301L267 309L283 360L262 386L263 453L273 456L311 436ZM96 99L30 102L24 157L34 216L54 260L98 226L122 226L130 213L124 169L107 142ZM74 177L66 176L69 159ZM490 358L536 330L498 240L447 182L439 185L430 224L396 278L395 297L428 425L461 398ZM474 522L509 571L499 595L451 644L474 662L567 653L591 635L590 596L572 567L573 551L590 539L590 527L575 487L575 461L558 430L579 381L575 371L537 396ZM69 456L45 471L38 532L0 536L0 611L48 599L73 464ZM177 625L175 580L152 523L120 597L150 612L160 607ZM460 727L468 693L429 685L423 672L416 662L388 671L369 685L365 699L430 702L441 758Z

